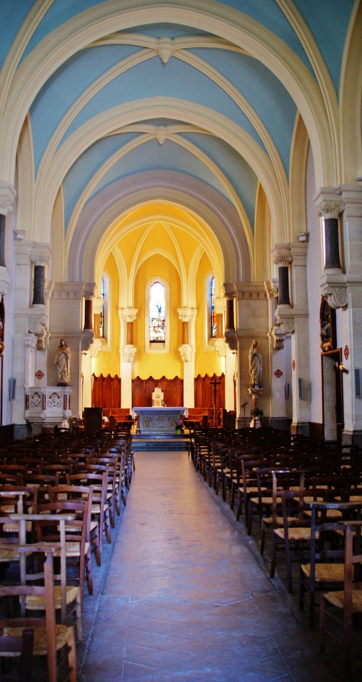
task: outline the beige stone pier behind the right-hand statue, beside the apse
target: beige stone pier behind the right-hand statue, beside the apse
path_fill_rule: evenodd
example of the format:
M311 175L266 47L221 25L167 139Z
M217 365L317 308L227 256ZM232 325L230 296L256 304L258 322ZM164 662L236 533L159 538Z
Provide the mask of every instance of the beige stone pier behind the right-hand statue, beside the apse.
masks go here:
M237 426L244 426L241 405L247 402L245 414L250 417L252 398L249 394L249 349L253 339L258 341L262 353L262 397L260 409L270 416L269 374L269 317L265 287L262 282L235 282L237 295Z

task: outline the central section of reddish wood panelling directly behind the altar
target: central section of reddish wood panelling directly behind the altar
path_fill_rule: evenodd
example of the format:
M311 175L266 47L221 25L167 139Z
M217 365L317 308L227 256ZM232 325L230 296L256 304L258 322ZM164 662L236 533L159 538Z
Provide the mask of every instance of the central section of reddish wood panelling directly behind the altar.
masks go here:
M132 379L132 405L151 407L152 394L156 386L164 392L164 403L168 407L183 405L183 379L179 376L175 376L174 379L166 379L166 376L162 376L161 379L153 379L153 376L140 379L140 376L136 376L136 379Z

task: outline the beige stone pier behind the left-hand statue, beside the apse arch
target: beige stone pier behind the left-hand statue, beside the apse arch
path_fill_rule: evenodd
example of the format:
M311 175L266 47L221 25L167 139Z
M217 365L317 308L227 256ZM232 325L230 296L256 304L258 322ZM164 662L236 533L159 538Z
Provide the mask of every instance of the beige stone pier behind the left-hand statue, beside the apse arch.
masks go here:
M48 385L56 386L57 368L52 364L61 338L64 338L72 353L70 364L70 385L72 392L72 414L82 414L81 354L89 350L89 338L82 333L82 294L85 282L56 282L50 301L50 332L48 355ZM93 338L93 332L92 332Z

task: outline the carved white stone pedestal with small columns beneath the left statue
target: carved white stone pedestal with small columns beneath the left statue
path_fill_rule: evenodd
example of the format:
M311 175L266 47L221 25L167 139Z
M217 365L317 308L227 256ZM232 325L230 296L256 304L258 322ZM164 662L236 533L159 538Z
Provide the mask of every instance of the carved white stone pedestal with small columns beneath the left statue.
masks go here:
M25 419L31 426L54 428L72 417L70 386L31 386L25 389Z

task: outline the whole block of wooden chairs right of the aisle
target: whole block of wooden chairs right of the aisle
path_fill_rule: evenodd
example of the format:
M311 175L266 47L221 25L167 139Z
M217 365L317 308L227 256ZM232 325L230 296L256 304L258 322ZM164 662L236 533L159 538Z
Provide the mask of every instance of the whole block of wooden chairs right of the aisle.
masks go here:
M237 501L236 518L243 518L249 535L258 523L260 553L271 548L270 576L284 564L289 592L292 564L299 563L299 608L308 595L312 629L320 593L320 651L326 633L335 636L328 619L342 612L350 677L352 614L362 612L359 448L271 429L209 429L190 432L190 456L231 509Z

